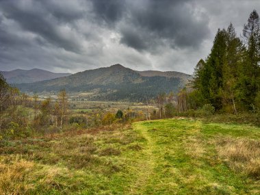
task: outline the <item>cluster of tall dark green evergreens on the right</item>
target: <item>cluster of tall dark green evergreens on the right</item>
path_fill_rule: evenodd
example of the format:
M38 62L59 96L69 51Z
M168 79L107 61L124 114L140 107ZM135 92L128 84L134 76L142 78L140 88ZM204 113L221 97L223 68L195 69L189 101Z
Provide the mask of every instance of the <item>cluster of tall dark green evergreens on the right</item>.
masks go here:
M192 81L194 107L211 104L217 111L255 110L260 99L260 23L250 14L239 38L232 23L218 29L211 53L200 60Z

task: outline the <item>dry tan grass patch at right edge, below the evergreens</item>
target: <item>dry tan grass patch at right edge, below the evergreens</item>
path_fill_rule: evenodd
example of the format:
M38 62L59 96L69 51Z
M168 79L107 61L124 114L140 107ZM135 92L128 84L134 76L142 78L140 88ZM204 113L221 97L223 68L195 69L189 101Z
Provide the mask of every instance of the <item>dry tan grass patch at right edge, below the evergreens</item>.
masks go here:
M218 153L235 172L260 179L260 141L224 139L218 141Z

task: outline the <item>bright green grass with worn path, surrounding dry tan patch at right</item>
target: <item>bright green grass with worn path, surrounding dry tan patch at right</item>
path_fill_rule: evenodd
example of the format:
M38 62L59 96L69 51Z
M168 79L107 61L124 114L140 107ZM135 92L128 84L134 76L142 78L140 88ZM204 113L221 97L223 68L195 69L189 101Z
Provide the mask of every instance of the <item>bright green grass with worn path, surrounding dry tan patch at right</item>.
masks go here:
M154 120L133 126L151 148L149 177L140 194L259 194L259 176L234 172L220 157L218 142L255 139L260 129L246 125L204 124L198 120ZM249 154L250 155L250 154ZM260 159L255 159L259 161ZM255 164L259 166L259 164ZM260 168L260 166L259 166ZM140 174L145 174L141 172ZM255 176L256 176L255 175Z

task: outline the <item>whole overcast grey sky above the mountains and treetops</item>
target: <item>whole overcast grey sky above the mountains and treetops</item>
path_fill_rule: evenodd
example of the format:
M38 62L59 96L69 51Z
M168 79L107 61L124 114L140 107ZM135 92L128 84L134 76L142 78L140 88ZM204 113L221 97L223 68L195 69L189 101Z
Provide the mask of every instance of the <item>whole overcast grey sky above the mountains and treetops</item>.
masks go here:
M237 36L259 0L0 0L0 70L122 64L192 74L218 28Z

